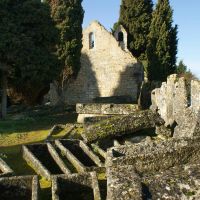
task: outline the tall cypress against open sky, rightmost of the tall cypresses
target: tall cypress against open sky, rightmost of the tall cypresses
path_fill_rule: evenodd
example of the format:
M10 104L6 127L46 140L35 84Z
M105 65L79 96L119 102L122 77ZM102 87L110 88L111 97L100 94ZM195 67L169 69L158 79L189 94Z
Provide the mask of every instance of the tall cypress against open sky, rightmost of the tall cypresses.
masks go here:
M169 0L158 0L147 45L148 80L165 81L176 70L177 25L173 26Z

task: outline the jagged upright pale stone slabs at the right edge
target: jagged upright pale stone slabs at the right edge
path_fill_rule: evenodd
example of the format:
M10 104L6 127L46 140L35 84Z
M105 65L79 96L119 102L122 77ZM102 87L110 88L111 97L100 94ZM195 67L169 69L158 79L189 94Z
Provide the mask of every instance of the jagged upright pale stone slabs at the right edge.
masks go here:
M175 137L200 135L200 82L187 83L173 74L152 91L151 108L158 111L165 126L175 127Z

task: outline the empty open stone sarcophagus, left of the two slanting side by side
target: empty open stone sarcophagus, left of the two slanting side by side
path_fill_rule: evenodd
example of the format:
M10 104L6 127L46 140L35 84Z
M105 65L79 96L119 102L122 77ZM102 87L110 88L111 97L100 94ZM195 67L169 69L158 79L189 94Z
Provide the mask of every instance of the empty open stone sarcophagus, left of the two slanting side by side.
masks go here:
M43 151L44 148L46 148L49 155L46 154L47 152ZM47 180L51 180L53 174L71 173L50 143L24 145L23 158L30 163L37 174L45 177ZM55 167L56 169L53 169ZM51 169L53 169L53 171Z

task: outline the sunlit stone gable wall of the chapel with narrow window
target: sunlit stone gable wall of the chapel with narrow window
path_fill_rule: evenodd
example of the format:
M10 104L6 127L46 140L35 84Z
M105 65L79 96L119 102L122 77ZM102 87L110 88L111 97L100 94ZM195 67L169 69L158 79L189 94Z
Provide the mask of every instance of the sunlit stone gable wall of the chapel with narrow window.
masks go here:
M94 34L92 49L90 33ZM66 103L89 103L96 97L110 96L131 96L136 101L143 80L142 66L96 21L83 32L81 66L77 79L64 90Z

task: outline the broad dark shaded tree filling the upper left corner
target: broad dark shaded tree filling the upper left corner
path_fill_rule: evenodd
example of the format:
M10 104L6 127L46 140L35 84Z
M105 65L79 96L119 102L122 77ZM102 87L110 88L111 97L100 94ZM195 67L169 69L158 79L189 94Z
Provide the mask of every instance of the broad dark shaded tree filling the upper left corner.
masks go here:
M3 91L8 83L26 103L34 104L59 72L49 6L39 0L1 0L0 30Z

